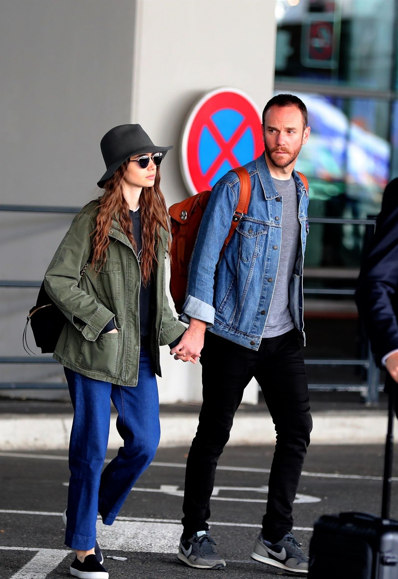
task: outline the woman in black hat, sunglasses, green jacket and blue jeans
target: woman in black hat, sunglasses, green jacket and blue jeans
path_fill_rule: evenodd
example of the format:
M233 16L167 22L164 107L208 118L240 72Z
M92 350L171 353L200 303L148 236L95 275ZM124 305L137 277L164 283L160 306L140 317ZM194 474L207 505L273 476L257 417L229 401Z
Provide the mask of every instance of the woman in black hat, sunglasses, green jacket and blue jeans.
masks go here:
M170 148L155 146L139 124L105 134L104 193L76 215L45 276L68 319L54 358L64 366L74 408L63 520L65 544L76 551L70 573L81 579L108 579L97 512L112 525L155 456L159 346L176 346L185 330L165 293L170 221L159 165ZM111 400L123 446L103 470Z

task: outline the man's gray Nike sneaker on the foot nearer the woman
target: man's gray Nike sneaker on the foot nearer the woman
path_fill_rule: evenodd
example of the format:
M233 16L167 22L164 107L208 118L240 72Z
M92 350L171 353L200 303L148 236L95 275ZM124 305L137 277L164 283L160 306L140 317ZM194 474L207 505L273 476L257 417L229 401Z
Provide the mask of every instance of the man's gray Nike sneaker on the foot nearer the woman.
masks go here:
M209 531L198 531L186 541L180 540L178 559L196 569L224 569L225 561L214 549Z

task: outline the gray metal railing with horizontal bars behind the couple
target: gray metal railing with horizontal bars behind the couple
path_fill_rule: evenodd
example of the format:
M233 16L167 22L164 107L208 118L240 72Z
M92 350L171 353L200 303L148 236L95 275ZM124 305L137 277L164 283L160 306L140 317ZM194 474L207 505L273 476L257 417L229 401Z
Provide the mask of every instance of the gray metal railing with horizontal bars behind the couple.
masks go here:
M0 211L25 211L38 213L69 213L75 214L81 210L80 207L54 207L54 206L31 206L31 205L5 205L0 204ZM374 219L343 219L343 218L309 218L310 223L330 223L339 225L366 225L374 226ZM42 281L36 280L0 280L0 287L24 287L34 288L40 287ZM305 288L304 294L308 295L354 295L355 290L336 290L336 289L312 289ZM30 356L1 356L0 364L58 364L56 360L51 357L39 356L33 358ZM309 389L316 391L360 391L363 393L364 400L367 404L376 404L378 402L378 394L382 389L382 384L379 384L380 372L375 365L373 356L368 349L368 357L365 360L331 360L323 358L319 360L305 360L306 365L314 366L356 366L362 367L367 371L367 380L364 384L308 384ZM62 382L0 382L0 390L12 389L64 389L67 384Z

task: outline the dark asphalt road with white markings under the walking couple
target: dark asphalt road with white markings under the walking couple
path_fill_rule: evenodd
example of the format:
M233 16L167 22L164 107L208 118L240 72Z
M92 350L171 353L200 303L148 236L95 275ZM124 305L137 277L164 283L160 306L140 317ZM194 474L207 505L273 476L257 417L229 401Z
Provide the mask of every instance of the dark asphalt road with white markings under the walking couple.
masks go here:
M194 577L176 557L181 534L187 448L159 449L112 527L98 521L98 543L111 579ZM310 446L294 506L294 534L308 549L320 514L380 511L381 446ZM109 453L109 458L114 453ZM221 456L211 501L211 534L227 560L231 579L297 577L254 562L251 547L265 510L273 448L230 447ZM65 547L61 512L67 500L65 453L0 453L0 578L61 579L73 558ZM398 464L398 461L396 461ZM398 518L398 468L392 517ZM126 560L107 559L107 556ZM335 554L334 554L335 555ZM344 571L339 579L344 577Z

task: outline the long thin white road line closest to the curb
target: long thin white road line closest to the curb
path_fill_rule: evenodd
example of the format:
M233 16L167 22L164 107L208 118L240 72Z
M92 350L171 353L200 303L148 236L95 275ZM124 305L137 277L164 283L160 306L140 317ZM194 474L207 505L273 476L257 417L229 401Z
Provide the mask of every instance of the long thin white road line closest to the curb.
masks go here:
M57 455L30 455L24 452L0 452L0 456L14 457L19 459L43 459L43 460L68 460L67 456L57 456ZM106 459L105 464L110 463L111 459ZM159 463L154 461L151 463L150 467L169 467L169 468L185 468L187 465L185 463ZM228 467L228 466L217 466L218 471L228 471L228 472L264 472L264 474L269 474L271 470L269 468L254 468L254 467ZM337 472L308 472L302 471L302 477L315 477L315 478L337 478L337 479L348 479L353 481L382 481L383 477L373 477L371 475L362 474L338 474ZM392 477L392 481L398 482L398 477Z

